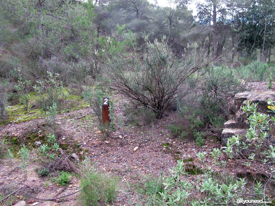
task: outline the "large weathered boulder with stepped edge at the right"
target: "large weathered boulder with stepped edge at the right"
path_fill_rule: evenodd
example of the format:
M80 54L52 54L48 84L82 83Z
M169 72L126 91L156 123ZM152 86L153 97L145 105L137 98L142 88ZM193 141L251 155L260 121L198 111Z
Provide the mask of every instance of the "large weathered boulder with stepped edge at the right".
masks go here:
M249 128L249 123L245 112L241 110L244 102L250 101L252 103L258 103L257 112L272 114L267 112L268 100L275 100L275 92L265 91L265 92L243 92L235 94L235 98L229 103L229 120L224 123L223 132L221 134L222 146L226 146L227 139L231 136L237 134L242 136L242 141L245 141L245 134ZM274 115L274 113L272 114ZM271 125L272 131L270 132L269 141L271 144L275 145L275 126Z

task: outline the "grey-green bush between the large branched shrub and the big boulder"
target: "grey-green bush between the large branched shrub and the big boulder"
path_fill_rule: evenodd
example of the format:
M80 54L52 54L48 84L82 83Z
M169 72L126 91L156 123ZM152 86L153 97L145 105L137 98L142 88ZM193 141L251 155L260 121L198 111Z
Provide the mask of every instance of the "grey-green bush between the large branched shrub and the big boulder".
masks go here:
M245 90L244 84L226 66L211 66L203 76L201 108L204 120L212 127L221 128L228 116L229 102L235 94Z

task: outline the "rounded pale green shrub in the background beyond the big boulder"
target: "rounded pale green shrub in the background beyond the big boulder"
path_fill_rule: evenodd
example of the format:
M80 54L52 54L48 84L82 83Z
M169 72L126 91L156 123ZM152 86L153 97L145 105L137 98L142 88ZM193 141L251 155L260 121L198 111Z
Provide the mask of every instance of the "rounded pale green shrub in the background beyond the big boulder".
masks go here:
M244 80L263 81L268 65L258 60L251 62L247 66L236 68L239 78Z

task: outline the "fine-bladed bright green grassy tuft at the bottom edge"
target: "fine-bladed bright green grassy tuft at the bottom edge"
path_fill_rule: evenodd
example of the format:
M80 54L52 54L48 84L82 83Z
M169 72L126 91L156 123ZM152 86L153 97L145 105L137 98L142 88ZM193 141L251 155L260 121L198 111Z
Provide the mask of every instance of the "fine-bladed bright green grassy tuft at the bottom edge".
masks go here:
M79 195L81 204L90 206L99 205L99 202L112 203L116 197L116 180L108 175L92 171L88 160L85 160L84 164Z

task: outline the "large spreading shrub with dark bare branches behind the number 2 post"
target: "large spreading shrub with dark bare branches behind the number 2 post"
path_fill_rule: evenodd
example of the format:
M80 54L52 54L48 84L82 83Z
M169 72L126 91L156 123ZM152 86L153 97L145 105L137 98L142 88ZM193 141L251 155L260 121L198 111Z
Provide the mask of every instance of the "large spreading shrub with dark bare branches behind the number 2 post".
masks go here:
M107 66L111 88L124 94L137 106L154 110L158 117L163 115L176 98L186 94L184 83L198 70L210 62L204 49L192 55L182 55L178 60L164 39L162 42L146 44L143 62L129 64L124 58L113 58ZM186 53L187 54L187 53Z

